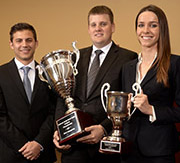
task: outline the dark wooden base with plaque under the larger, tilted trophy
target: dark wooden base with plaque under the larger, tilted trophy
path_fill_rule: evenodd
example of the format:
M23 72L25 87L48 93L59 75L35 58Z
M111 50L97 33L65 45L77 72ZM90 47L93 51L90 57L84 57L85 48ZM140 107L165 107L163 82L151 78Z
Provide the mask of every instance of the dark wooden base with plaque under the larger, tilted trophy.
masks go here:
M70 112L59 118L56 121L60 137L59 144L75 143L77 138L89 134L84 129L92 124L92 117L80 110Z

